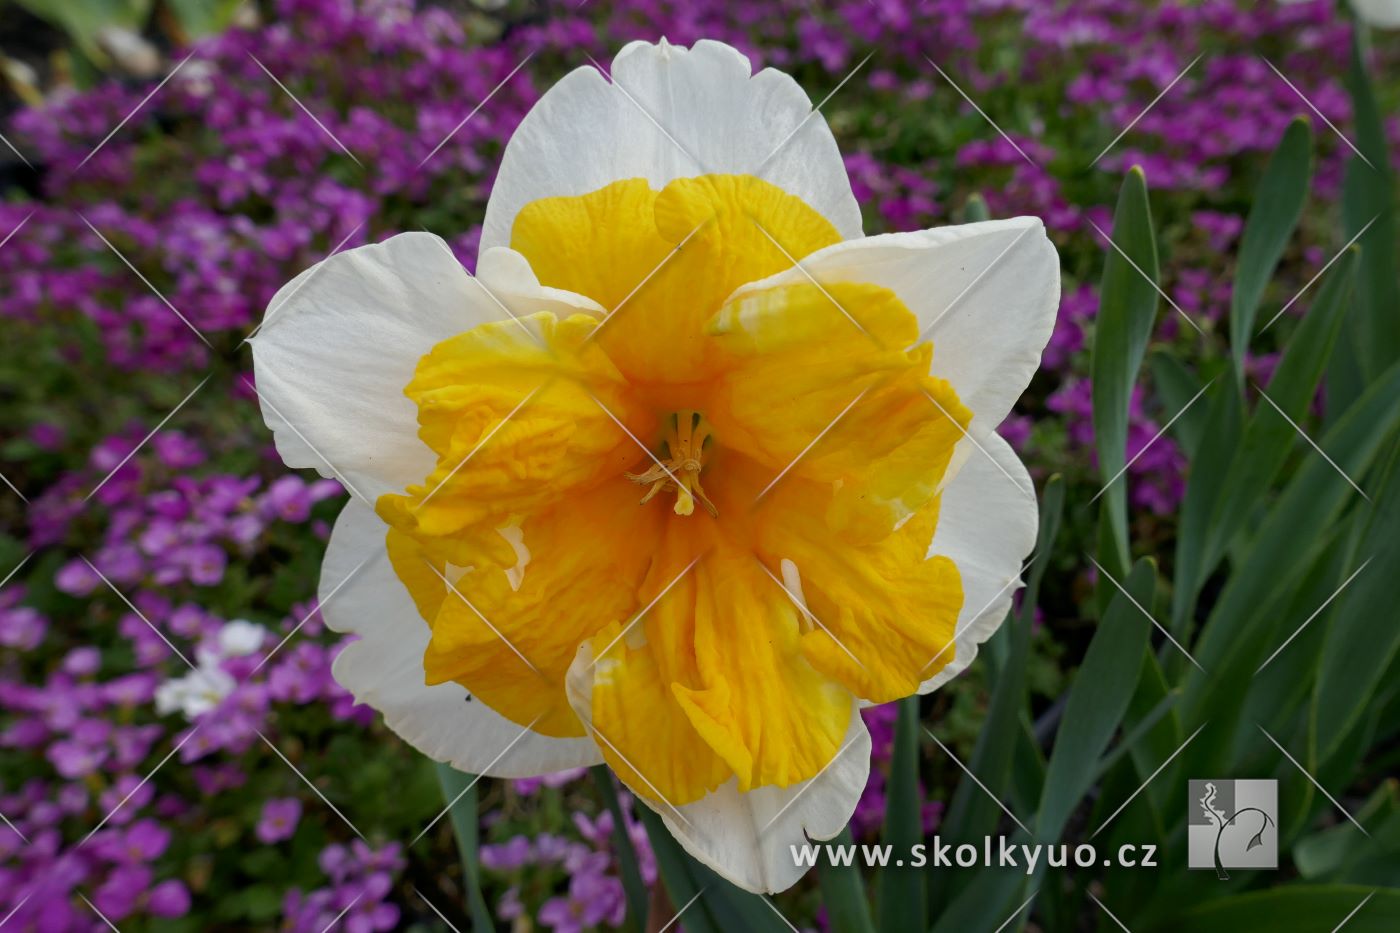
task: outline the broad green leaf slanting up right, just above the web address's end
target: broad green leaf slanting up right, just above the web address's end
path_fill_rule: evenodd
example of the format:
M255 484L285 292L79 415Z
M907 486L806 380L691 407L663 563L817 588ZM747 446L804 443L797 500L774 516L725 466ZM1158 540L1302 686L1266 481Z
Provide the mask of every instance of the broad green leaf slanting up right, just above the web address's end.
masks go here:
M1070 814L1088 793L1099 756L1137 688L1152 628L1144 615L1144 609L1152 611L1156 588L1152 562L1138 560L1123 587L1127 594L1117 593L1109 604L1065 700L1040 796L1036 838L1042 842L1060 838Z

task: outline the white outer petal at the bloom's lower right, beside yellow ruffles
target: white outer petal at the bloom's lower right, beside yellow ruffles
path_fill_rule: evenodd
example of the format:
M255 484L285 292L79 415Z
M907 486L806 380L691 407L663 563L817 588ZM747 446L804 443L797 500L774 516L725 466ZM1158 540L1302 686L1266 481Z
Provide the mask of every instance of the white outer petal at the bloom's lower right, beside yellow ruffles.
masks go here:
M976 443L974 443L976 441ZM1036 490L1011 445L995 431L972 433L962 469L942 490L938 528L928 548L952 558L962 574L953 660L918 688L934 691L967 670L977 646L1007 618L1021 588L1021 567L1036 546Z

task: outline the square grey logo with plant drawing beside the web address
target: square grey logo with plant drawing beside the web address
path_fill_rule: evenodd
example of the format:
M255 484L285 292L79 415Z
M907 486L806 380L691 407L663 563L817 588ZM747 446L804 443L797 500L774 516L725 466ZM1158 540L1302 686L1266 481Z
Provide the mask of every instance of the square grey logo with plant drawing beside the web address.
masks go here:
M1278 782L1193 780L1186 818L1187 866L1215 869L1278 867Z

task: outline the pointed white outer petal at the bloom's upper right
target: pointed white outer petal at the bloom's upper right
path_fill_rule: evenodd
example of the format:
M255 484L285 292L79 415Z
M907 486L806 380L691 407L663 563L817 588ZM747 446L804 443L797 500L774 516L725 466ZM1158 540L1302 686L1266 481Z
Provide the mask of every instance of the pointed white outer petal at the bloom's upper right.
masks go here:
M932 374L972 409L973 433L1000 424L1025 391L1060 305L1060 261L1037 217L839 242L735 294L808 276L895 291L934 343Z

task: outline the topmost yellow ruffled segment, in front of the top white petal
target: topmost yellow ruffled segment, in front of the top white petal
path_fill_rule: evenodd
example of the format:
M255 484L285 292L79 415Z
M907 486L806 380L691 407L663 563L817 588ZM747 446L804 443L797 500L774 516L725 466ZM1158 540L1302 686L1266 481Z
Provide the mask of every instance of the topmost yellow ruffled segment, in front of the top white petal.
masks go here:
M511 247L543 284L608 310L598 342L659 396L693 394L714 374L700 333L729 293L839 240L825 217L766 181L706 175L659 192L633 178L536 200L515 219Z

